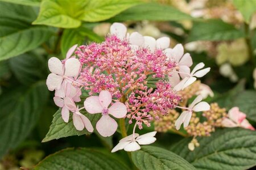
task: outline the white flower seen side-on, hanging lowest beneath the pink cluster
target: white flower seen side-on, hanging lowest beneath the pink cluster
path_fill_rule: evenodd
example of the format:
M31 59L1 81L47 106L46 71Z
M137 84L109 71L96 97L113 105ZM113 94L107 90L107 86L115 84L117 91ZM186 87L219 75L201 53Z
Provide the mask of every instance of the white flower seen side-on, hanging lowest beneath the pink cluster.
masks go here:
M125 150L128 152L137 151L141 149L141 146L139 145L149 145L154 143L156 141L156 138L154 137L155 134L156 131L152 131L143 135L139 135L138 133L131 134L125 138L122 138L111 152L116 152L118 150Z

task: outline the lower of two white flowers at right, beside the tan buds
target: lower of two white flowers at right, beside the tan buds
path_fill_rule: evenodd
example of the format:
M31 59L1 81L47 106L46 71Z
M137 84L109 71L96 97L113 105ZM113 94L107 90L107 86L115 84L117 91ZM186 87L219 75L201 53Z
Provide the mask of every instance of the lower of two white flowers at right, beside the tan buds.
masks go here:
M210 105L207 102L201 100L203 100L203 97L201 95L197 96L196 99L191 103L191 105L188 108L185 108L187 109L187 111L183 111L180 114L179 118L177 118L175 122L175 127L177 130L180 129L181 124L183 124L184 128L188 126L193 111L209 111Z

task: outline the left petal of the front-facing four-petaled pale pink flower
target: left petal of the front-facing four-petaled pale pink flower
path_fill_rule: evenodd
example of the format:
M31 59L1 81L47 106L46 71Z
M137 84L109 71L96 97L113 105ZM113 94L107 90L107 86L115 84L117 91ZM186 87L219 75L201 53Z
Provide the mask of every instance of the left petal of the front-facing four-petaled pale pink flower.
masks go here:
M84 101L85 110L90 114L101 113L102 106L98 96L90 96Z

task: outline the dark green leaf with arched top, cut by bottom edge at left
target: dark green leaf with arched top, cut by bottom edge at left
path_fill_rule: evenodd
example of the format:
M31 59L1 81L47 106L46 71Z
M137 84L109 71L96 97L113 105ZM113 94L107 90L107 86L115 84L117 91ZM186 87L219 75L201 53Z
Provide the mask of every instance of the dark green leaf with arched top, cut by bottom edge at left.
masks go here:
M113 156L89 148L68 148L47 156L36 165L35 170L43 169L129 169Z

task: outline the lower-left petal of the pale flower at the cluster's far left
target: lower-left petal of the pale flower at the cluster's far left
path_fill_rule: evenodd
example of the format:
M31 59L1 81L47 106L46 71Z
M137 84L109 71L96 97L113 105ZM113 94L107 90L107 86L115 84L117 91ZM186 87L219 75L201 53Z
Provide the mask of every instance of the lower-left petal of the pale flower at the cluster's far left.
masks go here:
M61 87L62 80L63 80L62 76L56 75L54 73L50 73L46 79L46 85L48 87L48 90L49 91L59 90Z

